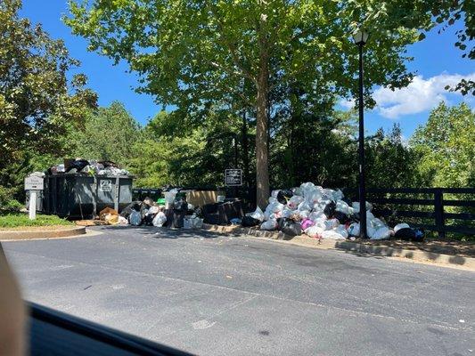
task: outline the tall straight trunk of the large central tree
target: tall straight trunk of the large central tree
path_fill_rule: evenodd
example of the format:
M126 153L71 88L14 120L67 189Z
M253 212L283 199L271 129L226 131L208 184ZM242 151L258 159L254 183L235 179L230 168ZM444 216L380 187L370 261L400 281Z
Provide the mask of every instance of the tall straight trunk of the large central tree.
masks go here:
M258 107L256 122L256 184L257 203L262 209L266 207L269 197L269 166L267 154L267 103L269 88L268 54L261 50L258 75Z

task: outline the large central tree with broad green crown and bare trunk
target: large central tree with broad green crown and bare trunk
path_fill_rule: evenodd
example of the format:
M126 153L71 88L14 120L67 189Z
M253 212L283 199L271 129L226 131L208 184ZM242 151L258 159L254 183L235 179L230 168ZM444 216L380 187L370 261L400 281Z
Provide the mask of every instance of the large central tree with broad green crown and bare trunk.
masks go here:
M268 120L273 90L299 83L308 96L356 93L351 34L371 31L365 87L407 85L405 46L431 26L419 1L214 0L71 1L66 22L89 49L142 75L140 91L184 112L241 97L256 112L258 204L269 193ZM250 91L243 91L243 83ZM251 93L251 95L247 95Z

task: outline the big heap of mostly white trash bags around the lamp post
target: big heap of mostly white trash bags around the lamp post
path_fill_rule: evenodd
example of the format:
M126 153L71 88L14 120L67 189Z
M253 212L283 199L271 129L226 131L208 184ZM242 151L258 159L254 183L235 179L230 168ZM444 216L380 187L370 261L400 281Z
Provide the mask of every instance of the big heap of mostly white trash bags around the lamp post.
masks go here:
M302 233L315 239L356 239L359 236L358 202L345 198L341 190L324 189L306 182L291 190L274 190L269 205L263 212L242 218L243 226L260 226L260 230L282 231L294 237ZM423 231L399 223L393 229L372 213L373 206L366 202L367 235L370 239L422 240Z

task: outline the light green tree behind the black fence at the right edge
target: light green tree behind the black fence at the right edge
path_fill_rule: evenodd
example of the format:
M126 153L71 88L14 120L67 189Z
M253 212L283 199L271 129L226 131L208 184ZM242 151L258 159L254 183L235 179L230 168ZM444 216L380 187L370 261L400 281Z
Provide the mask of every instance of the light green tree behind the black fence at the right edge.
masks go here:
M414 133L411 144L422 155L422 174L434 187L475 186L475 114L461 103L441 102Z

